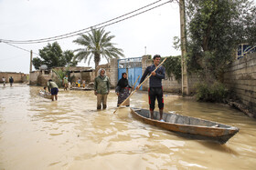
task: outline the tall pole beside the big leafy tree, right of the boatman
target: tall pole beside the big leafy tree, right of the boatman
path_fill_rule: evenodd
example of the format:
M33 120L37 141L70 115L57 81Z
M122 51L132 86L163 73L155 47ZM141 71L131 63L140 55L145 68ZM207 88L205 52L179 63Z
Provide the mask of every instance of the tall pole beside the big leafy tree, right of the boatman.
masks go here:
M187 81L187 36L186 36L186 19L185 19L185 0L179 0L180 13L180 39L181 39L181 74L182 74L182 95L189 95Z

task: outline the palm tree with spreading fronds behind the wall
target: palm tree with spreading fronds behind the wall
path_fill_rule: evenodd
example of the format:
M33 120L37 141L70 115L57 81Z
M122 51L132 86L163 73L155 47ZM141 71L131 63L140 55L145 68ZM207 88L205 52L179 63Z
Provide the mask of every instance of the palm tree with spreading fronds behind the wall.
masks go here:
M96 70L100 64L101 57L106 58L109 62L109 60L112 58L119 58L119 56L124 56L123 50L116 48L111 42L112 38L115 36L109 34L110 32L105 33L104 28L91 28L91 33L88 35L80 35L80 37L73 42L78 45L84 45L85 48L79 48L75 50L75 52L79 52L75 56L76 60L84 60L85 63L88 61L89 65L91 58L94 57ZM95 74L97 74L97 72L95 72Z

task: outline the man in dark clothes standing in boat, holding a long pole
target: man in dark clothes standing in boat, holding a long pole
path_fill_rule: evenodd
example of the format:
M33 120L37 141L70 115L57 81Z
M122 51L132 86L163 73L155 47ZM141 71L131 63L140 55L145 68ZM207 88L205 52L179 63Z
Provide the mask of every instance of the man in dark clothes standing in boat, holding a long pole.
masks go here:
M164 97L163 97L163 86L162 79L165 79L165 67L161 65L154 72L155 68L160 64L161 56L155 55L153 58L154 64L146 67L144 75L141 78L140 84L144 82L146 75L151 75L149 78L149 88L148 88L148 103L150 109L151 118L154 119L154 110L155 110L155 98L158 102L158 108L160 113L160 121L163 120L163 110L164 110ZM139 86L136 87L138 89Z

